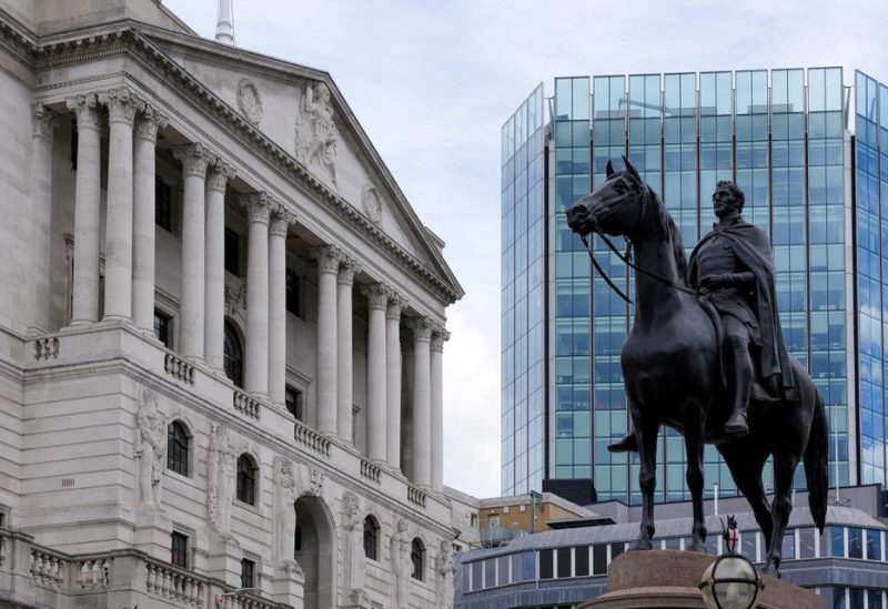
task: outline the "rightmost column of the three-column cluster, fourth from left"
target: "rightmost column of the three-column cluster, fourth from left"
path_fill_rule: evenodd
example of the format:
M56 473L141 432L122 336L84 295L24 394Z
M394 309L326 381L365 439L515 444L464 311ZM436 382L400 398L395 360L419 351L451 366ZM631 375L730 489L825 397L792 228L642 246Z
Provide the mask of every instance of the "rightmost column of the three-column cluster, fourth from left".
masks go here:
M145 106L135 123L133 150L132 321L154 335L154 152L167 119Z

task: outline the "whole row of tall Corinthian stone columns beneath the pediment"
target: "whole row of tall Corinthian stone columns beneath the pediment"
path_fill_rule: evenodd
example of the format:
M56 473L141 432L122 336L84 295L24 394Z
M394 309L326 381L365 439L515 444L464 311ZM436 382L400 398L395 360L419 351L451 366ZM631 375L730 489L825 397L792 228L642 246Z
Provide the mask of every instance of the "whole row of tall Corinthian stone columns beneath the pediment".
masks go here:
M72 326L99 322L101 219L101 109L108 109L108 201L103 319L132 323L145 333L154 324L154 184L158 131L167 119L128 88L67 101L77 118L77 177ZM52 131L58 118L46 106L33 112L32 257L49 267ZM235 173L201 143L174 148L182 163L181 294L178 352L222 371L224 341L225 191ZM39 177L44 176L44 177ZM294 214L265 192L238 196L249 219L244 389L283 405L286 373L286 234ZM317 430L352 441L352 301L361 264L332 244L311 251L317 267ZM366 275L364 273L364 275ZM32 328L48 329L48 273L32 280ZM366 456L392 469L401 466L401 322L406 300L382 282L364 283L369 305ZM413 334L413 483L443 488L442 351L448 333L425 316L405 324Z

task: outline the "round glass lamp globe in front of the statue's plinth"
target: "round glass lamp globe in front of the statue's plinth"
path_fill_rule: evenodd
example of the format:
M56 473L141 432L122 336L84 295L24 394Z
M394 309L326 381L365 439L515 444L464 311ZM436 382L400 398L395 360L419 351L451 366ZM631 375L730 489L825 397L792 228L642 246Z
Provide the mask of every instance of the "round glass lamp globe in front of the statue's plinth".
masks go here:
M738 554L725 554L703 572L699 583L709 609L751 609L763 588L755 567Z

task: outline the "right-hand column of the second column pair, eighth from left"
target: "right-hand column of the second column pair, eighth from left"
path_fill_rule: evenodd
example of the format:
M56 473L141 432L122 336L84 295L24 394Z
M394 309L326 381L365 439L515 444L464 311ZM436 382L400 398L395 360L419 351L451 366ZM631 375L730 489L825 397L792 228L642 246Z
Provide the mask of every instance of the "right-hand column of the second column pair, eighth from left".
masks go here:
M281 406L286 387L286 231L294 221L281 204L269 224L269 399Z

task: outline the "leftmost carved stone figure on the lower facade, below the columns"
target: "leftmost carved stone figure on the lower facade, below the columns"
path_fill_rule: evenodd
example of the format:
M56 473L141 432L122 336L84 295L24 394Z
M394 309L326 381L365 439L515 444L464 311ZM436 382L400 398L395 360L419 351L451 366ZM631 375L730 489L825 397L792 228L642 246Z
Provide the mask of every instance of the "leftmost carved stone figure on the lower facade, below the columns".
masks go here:
M161 477L167 438L167 417L158 408L158 395L144 392L135 414L135 458L138 465L139 508L160 510Z

